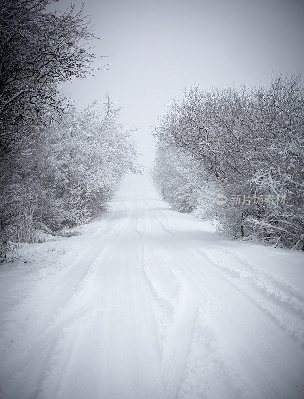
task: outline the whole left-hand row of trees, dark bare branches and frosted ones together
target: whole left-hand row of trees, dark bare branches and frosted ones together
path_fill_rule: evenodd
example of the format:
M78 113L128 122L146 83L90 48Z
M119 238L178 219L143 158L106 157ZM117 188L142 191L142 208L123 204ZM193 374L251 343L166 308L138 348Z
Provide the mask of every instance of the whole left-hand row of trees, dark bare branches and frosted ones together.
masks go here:
M35 232L90 220L127 169L132 132L107 98L77 110L62 82L92 75L91 21L51 0L0 0L0 256Z

